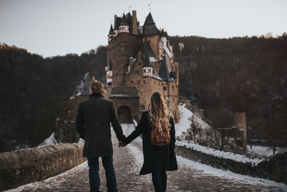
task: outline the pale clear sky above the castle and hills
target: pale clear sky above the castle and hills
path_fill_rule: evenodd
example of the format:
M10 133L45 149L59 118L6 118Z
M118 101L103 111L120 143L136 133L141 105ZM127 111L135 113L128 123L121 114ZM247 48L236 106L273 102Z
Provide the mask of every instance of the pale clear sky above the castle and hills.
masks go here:
M222 39L287 32L287 0L0 0L0 42L43 57L81 55L107 45L114 16L129 9L137 11L140 26L151 12L157 28L169 36Z

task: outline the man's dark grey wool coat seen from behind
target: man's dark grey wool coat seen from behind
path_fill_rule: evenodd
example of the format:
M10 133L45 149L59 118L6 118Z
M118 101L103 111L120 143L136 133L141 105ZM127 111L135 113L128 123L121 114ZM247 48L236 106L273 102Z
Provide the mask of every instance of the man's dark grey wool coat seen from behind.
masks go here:
M89 99L78 106L75 127L80 137L85 140L83 157L95 158L113 155L110 123L117 139L125 138L112 100L91 94Z

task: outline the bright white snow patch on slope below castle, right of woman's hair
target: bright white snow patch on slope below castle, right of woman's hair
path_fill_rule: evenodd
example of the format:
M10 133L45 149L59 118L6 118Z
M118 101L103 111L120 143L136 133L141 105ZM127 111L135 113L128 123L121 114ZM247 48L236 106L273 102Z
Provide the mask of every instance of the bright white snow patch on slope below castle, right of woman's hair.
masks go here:
M178 105L179 109L179 123L175 123L175 137L180 137L183 132L186 132L190 128L191 121L189 118L193 115L191 111L185 108L185 103L183 105Z

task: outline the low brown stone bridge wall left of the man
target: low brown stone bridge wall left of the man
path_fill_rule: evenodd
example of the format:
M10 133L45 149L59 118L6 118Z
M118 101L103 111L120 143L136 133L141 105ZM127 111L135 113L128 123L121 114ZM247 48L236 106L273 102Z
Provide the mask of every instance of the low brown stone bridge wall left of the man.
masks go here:
M0 153L0 191L42 181L85 162L83 147L84 143L65 143Z

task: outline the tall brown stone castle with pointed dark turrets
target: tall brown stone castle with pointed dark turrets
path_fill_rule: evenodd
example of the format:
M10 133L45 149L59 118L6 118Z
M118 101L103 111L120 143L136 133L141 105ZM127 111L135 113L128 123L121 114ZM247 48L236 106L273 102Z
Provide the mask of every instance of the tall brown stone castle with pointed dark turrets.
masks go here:
M114 101L122 123L139 121L153 92L161 92L176 122L178 62L174 61L167 32L158 30L151 14L143 26L132 15L115 15L108 33L106 95Z

